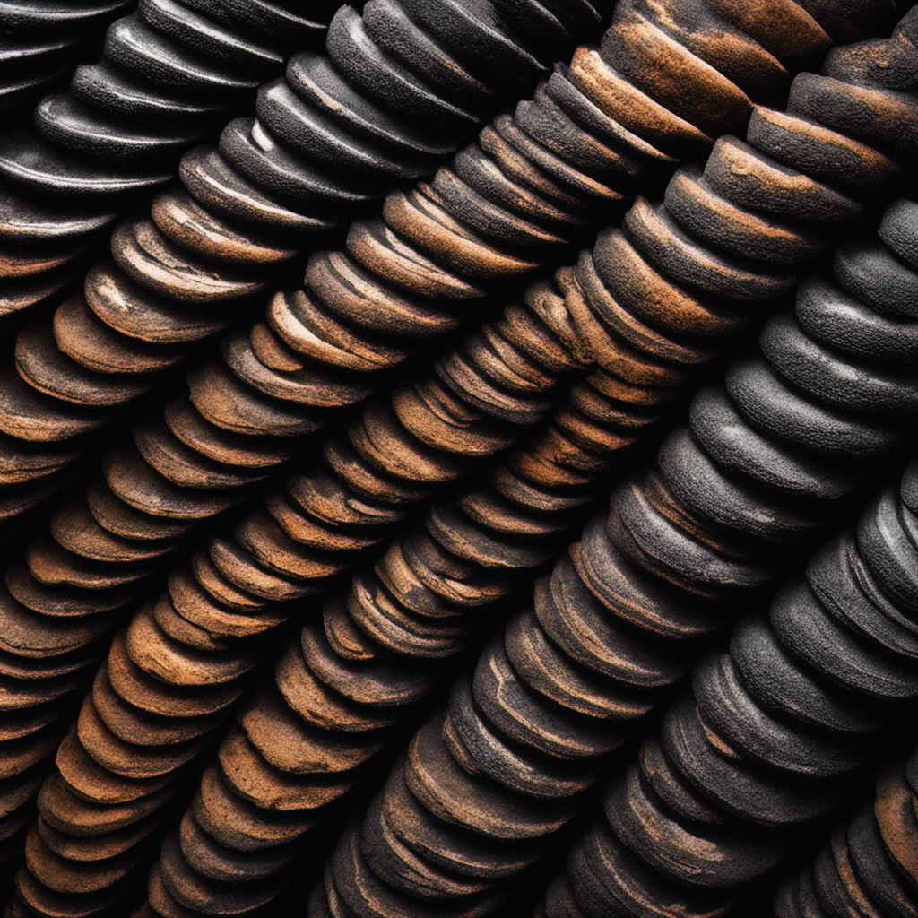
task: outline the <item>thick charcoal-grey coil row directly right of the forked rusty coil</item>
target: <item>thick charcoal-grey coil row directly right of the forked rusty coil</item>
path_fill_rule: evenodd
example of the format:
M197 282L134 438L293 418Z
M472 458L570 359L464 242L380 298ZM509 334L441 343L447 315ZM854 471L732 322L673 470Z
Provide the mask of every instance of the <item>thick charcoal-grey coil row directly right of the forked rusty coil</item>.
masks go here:
M758 349L734 361L722 385L700 392L689 427L667 438L655 466L616 490L610 513L588 525L581 543L539 585L533 610L510 621L474 674L454 686L445 714L415 734L385 792L342 839L316 892L316 913L465 914L479 898L490 902L496 880L540 853L539 843L576 811L577 792L599 777L607 756L632 733L633 719L686 671L693 639L723 621L751 589L772 582L858 474L901 440L918 409L911 337L918 317L916 214L912 203L890 207L881 228L886 245L839 250L834 281L813 276L801 285L796 310L770 319ZM358 610L348 628L326 623L326 640L341 646L341 657L364 650L353 634L364 633L367 619ZM795 633L818 634L830 652L844 636L830 624ZM303 658L321 659L308 657L307 634ZM914 685L898 654L894 649L886 663L893 694L902 690L897 680ZM317 670L313 683L324 687L328 680L350 700L347 681L333 682L324 668ZM868 684L870 692L881 690ZM721 699L706 707L705 717L713 708L724 717L736 710ZM287 723L309 727L304 743L312 738L315 724L301 709L308 710L306 703L289 690L275 696L274 731L281 711ZM243 708L237 734L259 758L248 748L233 749L241 742L230 733L219 760L220 777L237 792L241 812L249 812L245 805L252 801L251 787L240 787L238 778L253 773L241 765L244 754L274 768L286 787L299 777L289 764L299 734L284 733L281 755L252 711L257 706ZM684 718L667 721L673 722L688 731ZM737 745L743 755L753 753L737 734L752 735L751 727L744 722L722 737L719 723L706 722L711 733L699 728L693 735L700 742L713 736L715 751L728 762L723 767L746 774L735 762ZM767 746L776 748L785 748L782 740ZM341 771L347 774L343 757ZM703 777L692 772L689 783ZM773 788L767 781L763 786ZM709 785L703 787L707 793ZM737 779L732 799L746 792L745 805L761 804L761 813L776 820L815 815L828 796L812 784L797 786L782 808L775 799L763 803L765 791L756 796L753 789L760 787ZM623 812L617 800L610 812ZM266 798L265 816L276 809ZM748 827L744 833L741 838L750 837ZM649 824L645 841L657 859L666 857L658 825ZM179 835L167 845L154 888L168 883L182 850ZM765 864L755 854L733 861L715 852L711 860L724 870L729 861L748 871L748 879L756 864ZM681 852L672 859L683 863ZM607 905L587 913L619 912Z

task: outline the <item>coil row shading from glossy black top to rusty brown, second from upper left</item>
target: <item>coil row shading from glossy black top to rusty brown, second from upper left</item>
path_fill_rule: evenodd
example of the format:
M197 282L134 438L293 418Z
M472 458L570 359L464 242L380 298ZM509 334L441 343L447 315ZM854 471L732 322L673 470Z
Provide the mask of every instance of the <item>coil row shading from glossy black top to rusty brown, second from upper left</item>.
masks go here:
M463 29L454 28L456 22ZM599 24L599 13L587 0L543 5L536 0L371 0L362 16L342 7L331 22L328 55L295 54L285 79L262 85L256 119L231 122L219 149L188 153L181 164L184 185L157 196L149 217L115 229L114 262L89 271L83 295L64 302L53 319L36 319L21 330L17 362L2 371L0 455L16 471L0 479L0 518L15 516L54 487L55 473L91 448L93 432L118 420L119 409L181 364L196 341L245 310L263 312L278 266L302 253L317 233L346 225L358 208L393 185L430 174L468 139L483 114L502 99L529 91L555 53L569 48L573 38L598 31ZM509 79L508 72L517 76ZM201 118L192 123L199 129ZM137 121L128 127L136 129ZM167 165L162 152L152 162L157 168ZM0 175L3 169L0 151ZM66 226L55 220L52 229L66 232ZM359 266L340 274L333 255L317 258L312 274L322 274L326 286L346 286L344 292L331 291L339 308L354 306L345 294L356 291L347 285L372 288ZM322 278L308 283L322 289ZM458 279L452 281L454 289L446 286L420 293L460 299L484 293L480 285ZM397 297L388 290L379 293L380 299L386 293ZM278 389L282 401L297 401L302 377L318 375L320 386L328 369L333 372L346 357L359 360L361 351L386 350L375 340L341 341L347 331L338 329L334 315L317 321L318 329L297 330L293 341L274 349L269 342L268 353L252 353L243 335L227 344L233 352L229 380L223 382L224 371L217 367L204 371L205 382L198 387L210 393L221 384L230 389L260 385L268 401ZM405 327L402 334L437 330L434 319L419 321L420 330ZM318 362L307 366L297 353L307 346L301 333L318 338L315 343L330 338L330 349L336 342L356 353L338 361L332 355L330 368L313 368L329 362L328 354L319 354ZM386 363L385 354L374 358L371 353L368 359L375 369ZM357 375L371 366L358 365ZM345 366L342 373L350 370ZM234 373L243 381L234 384ZM215 374L218 378L211 378ZM252 374L254 383L247 379ZM342 385L351 386L347 380ZM234 393L217 397L224 395ZM245 399L246 393L239 397ZM256 392L247 401L259 399ZM263 423L263 432L270 434L272 422L282 423L270 409L261 414L257 409L257 404L240 407L249 415L238 421L243 433L258 432ZM219 431L208 435L206 420L201 423L202 436L220 439Z

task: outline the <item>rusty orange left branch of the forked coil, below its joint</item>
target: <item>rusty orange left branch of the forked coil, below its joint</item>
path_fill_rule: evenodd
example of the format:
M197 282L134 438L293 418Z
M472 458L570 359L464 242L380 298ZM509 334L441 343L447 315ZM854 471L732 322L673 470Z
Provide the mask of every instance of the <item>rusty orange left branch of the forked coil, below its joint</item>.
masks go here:
M57 750L58 774L43 791L54 813L40 825L52 825L60 844L49 848L36 834L27 847L30 873L22 878L20 896L34 912L52 914L50 902L61 896L81 901L81 908L107 903L129 885L139 862L149 866L140 855L152 829L170 818L168 804L180 779L225 726L229 706L251 682L252 667L270 653L273 629L301 608L268 608L271 600L327 590L335 574L431 489L519 438L526 423L544 413L551 385L570 360L560 347L540 353L539 345L550 340L547 330L526 338L537 321L535 315L496 323L511 339L516 332L518 349L506 342L506 364L486 351L488 335L495 337L487 327L451 354L453 363L465 361L461 378L442 372L440 364L439 373L421 375L372 403L322 447L330 467L299 476L265 509L246 515L212 543L209 553L176 565L168 590L133 614ZM519 364L530 372L508 378ZM325 519L310 513L319 508ZM351 525L341 520L342 512L353 515ZM33 621L29 641L40 641L49 654L67 648L70 659L82 642L92 663L96 629L106 635L110 621L105 614L45 619L40 638ZM44 686L53 689L47 680ZM36 755L42 754L40 745L33 744ZM122 830L128 828L125 840ZM62 839L76 834L83 835L80 863L63 868L69 858ZM114 858L113 834L124 845ZM275 890L270 884L248 890L228 885L209 900L209 890L195 891L196 905L218 903L220 910L234 911L240 903L261 904Z

